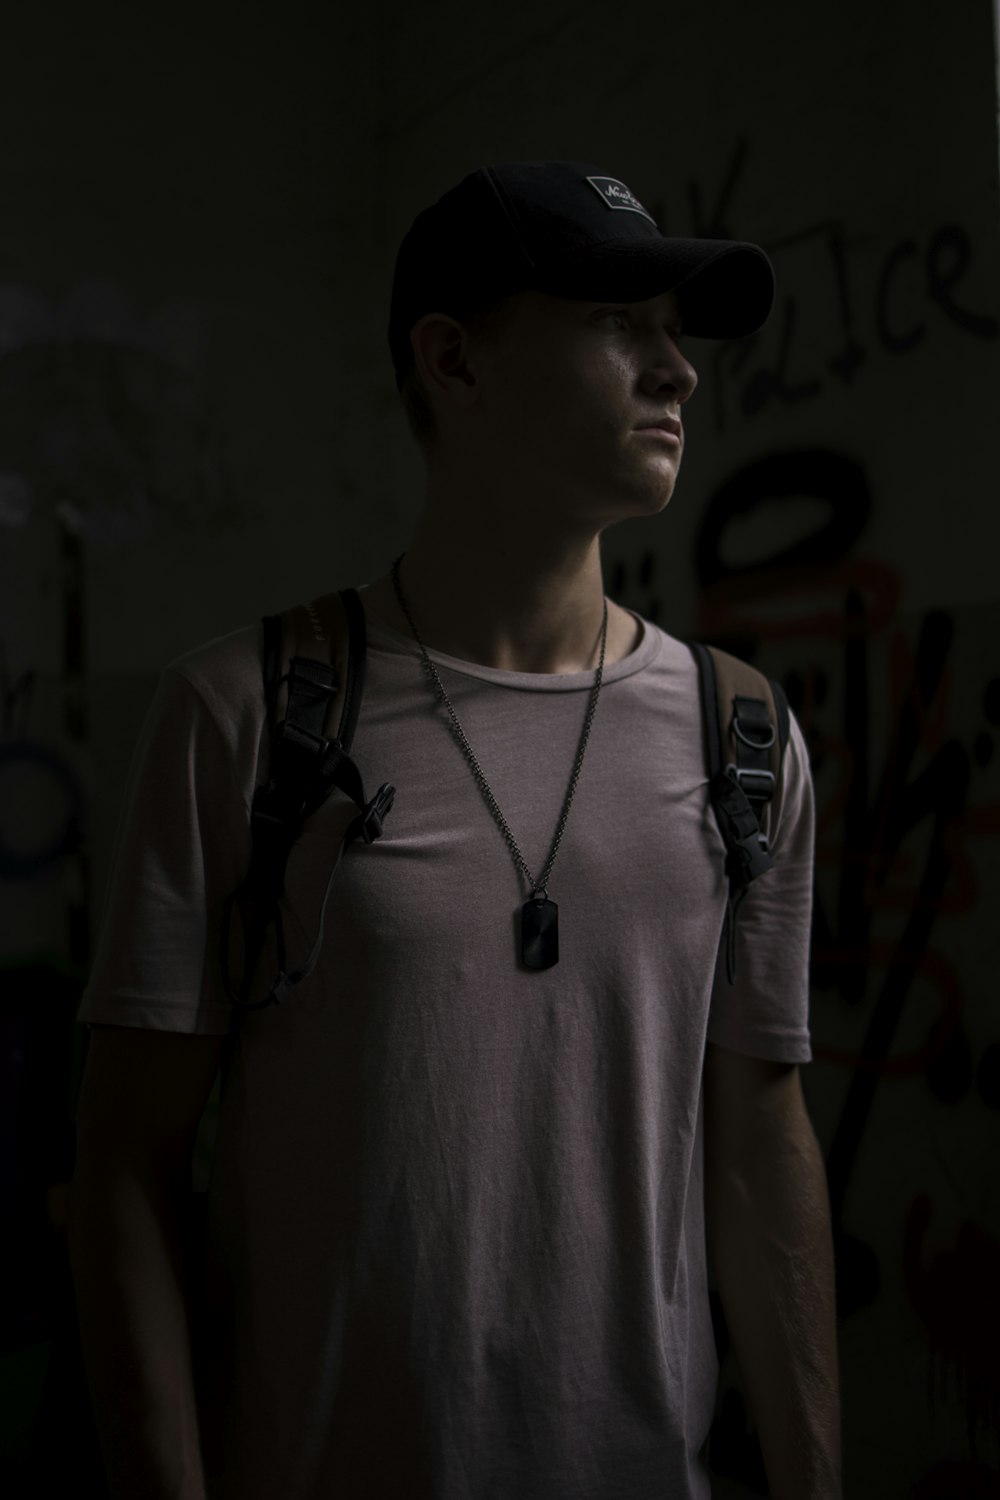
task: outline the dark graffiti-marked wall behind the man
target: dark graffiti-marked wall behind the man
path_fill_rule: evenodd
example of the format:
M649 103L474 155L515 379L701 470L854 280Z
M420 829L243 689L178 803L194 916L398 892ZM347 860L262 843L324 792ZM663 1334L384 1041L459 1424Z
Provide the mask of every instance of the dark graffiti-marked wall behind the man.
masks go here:
M474 166L547 158L775 264L759 336L685 346L678 492L606 534L607 586L784 681L808 738L846 1496L997 1494L990 0L49 4L0 21L0 57L10 1486L39 1432L90 1461L63 1348L73 1016L156 674L402 549L396 248ZM720 1496L765 1492L732 1353L712 1455Z

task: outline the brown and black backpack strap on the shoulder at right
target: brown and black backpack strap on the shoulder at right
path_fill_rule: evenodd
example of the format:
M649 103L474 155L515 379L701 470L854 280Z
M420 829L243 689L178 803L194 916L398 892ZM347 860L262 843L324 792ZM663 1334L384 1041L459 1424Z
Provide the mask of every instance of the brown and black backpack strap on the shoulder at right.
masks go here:
M768 830L789 742L789 702L739 657L691 642L699 668L709 795L726 844L726 968L736 978L736 912L747 886L774 864Z

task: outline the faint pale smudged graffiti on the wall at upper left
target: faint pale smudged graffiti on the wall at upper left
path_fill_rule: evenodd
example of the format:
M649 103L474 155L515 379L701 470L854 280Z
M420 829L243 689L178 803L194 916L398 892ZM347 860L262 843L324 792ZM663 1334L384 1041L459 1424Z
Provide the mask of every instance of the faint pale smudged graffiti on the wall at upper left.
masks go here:
M42 506L79 536L124 543L153 516L232 522L201 344L184 303L139 316L103 282L57 308L0 286L0 525Z

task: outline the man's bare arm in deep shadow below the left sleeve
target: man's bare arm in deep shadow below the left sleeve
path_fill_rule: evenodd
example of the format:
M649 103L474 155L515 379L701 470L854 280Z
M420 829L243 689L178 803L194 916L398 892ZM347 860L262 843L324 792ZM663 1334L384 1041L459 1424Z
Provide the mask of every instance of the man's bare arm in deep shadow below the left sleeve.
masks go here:
M94 1028L79 1096L69 1251L111 1496L204 1500L187 1209L225 1036Z

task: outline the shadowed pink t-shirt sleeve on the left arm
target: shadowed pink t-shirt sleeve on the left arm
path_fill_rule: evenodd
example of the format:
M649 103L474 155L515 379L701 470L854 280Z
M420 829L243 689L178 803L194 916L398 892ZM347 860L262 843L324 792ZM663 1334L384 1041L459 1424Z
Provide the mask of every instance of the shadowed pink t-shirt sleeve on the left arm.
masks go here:
M132 759L79 1020L226 1034L222 912L249 855L249 807L223 729L166 668Z

